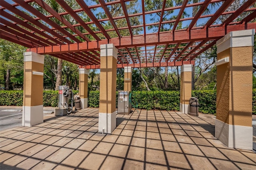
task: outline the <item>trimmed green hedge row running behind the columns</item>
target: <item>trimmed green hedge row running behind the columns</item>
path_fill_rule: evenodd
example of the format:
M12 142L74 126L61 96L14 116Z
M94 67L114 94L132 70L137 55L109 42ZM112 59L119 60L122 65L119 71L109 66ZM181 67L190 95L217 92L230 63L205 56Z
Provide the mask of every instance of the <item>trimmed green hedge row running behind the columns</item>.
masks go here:
M74 94L78 91L74 90ZM117 99L116 92L116 99ZM22 90L0 90L0 106L22 106ZM192 96L197 97L200 103L199 111L207 114L216 113L215 90L193 90ZM100 92L88 93L88 106L99 107ZM57 107L58 91L44 91L43 105ZM132 92L132 105L138 109L179 110L180 92L178 91L134 91ZM117 106L117 100L116 100ZM252 93L252 114L256 115L256 90Z

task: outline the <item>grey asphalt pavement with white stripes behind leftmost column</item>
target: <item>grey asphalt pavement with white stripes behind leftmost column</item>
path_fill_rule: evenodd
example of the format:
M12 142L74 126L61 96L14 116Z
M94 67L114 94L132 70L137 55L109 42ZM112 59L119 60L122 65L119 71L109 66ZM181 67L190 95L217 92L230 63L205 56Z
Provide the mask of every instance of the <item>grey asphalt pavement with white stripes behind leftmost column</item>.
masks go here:
M54 107L44 107L44 116L54 114ZM22 125L22 107L0 107L0 131Z

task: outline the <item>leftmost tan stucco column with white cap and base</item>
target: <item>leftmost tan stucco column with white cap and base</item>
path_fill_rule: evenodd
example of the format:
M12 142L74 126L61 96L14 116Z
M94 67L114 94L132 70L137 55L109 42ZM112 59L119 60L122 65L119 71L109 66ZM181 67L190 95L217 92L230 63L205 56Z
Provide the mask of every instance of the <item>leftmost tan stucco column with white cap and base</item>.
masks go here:
M44 56L34 52L24 53L22 126L44 122L43 86Z

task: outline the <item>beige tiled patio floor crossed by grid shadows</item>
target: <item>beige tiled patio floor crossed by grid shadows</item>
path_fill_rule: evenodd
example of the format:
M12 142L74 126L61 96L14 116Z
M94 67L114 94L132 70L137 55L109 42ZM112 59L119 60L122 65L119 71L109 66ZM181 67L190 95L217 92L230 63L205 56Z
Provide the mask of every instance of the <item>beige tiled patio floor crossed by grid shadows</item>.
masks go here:
M1 169L256 169L256 153L214 137L210 115L134 111L111 135L97 133L97 108L44 121L0 133Z

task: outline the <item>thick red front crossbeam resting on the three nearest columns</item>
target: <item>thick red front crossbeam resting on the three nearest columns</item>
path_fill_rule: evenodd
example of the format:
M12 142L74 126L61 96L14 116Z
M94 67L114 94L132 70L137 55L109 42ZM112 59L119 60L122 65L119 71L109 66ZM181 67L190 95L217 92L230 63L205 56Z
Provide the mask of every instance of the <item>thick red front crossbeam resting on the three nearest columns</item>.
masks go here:
M138 35L134 36L132 39L130 37L122 38L112 38L109 40L109 43L113 43L117 48L124 47L134 47L140 46L144 47L145 45L159 45L167 43L184 43L190 41L204 41L204 40L213 40L219 37L223 37L225 33L230 31L238 31L244 29L255 29L256 23L248 23L245 25L227 25L227 27L209 27L208 30L203 28L193 28L190 31L180 30L174 31L174 33L160 32L159 35L156 33L147 34L147 35ZM52 47L38 47L37 49L31 49L39 54L53 54L53 53L68 53L68 52L78 52L78 51L94 51L100 49L100 44L107 44L108 41L92 41L88 43L76 43L76 44L66 44L60 46ZM55 49L55 50L54 50Z

